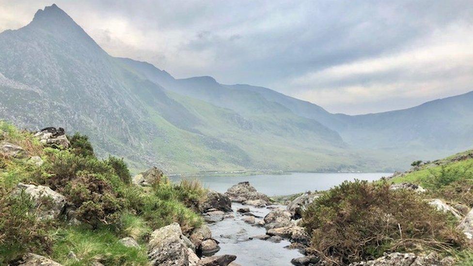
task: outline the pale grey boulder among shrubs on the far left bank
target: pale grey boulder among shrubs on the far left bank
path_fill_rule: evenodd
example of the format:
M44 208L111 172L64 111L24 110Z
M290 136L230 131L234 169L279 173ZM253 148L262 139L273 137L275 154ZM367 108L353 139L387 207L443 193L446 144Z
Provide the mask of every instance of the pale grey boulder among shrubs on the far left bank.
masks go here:
M18 183L15 193L30 196L39 219L57 219L65 210L65 197L49 187Z

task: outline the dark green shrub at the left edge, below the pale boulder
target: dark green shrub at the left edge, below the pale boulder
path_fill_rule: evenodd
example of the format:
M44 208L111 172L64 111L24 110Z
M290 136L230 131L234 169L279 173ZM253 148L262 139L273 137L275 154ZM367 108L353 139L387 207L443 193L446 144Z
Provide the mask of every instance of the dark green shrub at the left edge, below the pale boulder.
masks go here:
M0 191L0 265L24 252L49 253L52 239L48 220L36 218L33 203L24 193L12 196Z

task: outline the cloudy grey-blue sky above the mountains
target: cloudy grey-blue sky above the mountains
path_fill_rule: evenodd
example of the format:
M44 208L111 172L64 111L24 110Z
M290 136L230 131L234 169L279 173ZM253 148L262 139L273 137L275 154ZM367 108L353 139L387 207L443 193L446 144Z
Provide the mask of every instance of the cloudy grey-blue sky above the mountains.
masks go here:
M0 31L56 3L110 55L331 112L473 91L472 0L0 0Z

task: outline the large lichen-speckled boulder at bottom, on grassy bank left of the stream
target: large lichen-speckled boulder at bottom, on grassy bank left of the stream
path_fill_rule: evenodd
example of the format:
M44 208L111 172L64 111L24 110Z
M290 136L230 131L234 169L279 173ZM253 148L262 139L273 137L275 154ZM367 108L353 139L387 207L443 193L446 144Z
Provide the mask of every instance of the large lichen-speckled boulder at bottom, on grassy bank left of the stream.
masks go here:
M155 230L149 239L148 258L151 265L189 265L188 243L178 223Z

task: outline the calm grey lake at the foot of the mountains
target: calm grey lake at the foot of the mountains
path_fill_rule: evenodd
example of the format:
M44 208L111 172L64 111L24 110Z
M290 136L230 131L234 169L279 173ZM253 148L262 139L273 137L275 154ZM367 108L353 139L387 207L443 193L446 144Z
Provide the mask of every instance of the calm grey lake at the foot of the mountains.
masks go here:
M218 192L225 192L238 182L249 181L259 192L268 196L289 195L304 191L327 190L341 184L345 180L378 180L392 173L302 173L294 172L282 175L252 175L252 176L198 176L206 187ZM189 179L189 177L182 177ZM173 176L172 181L179 181L181 177Z

